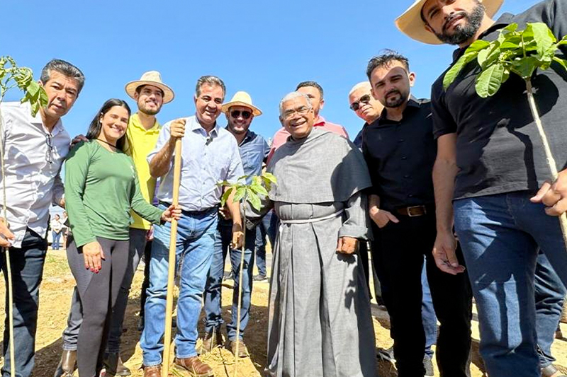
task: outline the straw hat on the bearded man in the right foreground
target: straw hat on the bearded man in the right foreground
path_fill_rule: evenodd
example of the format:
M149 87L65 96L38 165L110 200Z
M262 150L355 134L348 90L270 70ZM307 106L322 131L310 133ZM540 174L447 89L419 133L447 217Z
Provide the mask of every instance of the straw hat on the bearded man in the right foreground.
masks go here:
M425 22L421 18L421 9L427 0L416 0L400 17L395 19L395 25L408 37L430 45L442 45L433 33L425 30ZM488 17L498 12L504 0L480 0L486 8Z

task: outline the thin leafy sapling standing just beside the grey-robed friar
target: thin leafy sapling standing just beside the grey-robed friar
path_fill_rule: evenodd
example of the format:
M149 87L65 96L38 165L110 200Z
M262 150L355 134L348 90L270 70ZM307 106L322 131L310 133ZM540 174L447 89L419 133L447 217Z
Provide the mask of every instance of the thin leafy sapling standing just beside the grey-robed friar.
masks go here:
M222 187L228 187L228 189L223 194L220 199L220 206L225 207L226 202L230 198L232 192L235 192L232 200L234 202L242 201L243 204L249 202L254 209L259 211L262 208L263 197L268 196L268 192L271 190L271 186L277 183L276 177L271 173L262 173L262 175L254 175L252 177L252 182L247 185L246 179L249 178L248 175L242 175L239 177L237 182L230 183L228 181L219 182L218 185ZM240 339L240 308L242 306L242 267L244 267L244 253L246 248L246 206L242 207L242 247L240 248L240 271L238 273L238 308L237 308L237 325L236 325L236 340ZM249 266L252 268L252 266ZM239 342L236 343L235 349L235 371L233 377L237 377L237 366L238 366L238 346Z

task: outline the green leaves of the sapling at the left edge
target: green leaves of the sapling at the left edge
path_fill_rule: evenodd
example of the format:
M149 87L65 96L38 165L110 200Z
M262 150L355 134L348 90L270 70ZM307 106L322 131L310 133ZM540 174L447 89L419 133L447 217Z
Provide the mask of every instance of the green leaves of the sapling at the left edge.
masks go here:
M21 103L29 102L32 115L47 105L47 93L33 79L33 72L27 66L18 66L9 56L0 57L0 103L12 88L20 88L24 95Z

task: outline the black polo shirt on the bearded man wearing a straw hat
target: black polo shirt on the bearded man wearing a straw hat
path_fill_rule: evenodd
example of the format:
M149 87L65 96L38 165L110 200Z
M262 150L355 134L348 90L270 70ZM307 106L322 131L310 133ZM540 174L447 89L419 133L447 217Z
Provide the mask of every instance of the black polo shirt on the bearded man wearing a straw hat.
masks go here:
M557 39L567 34L567 0L546 0L524 13L504 14L483 35L482 40L498 38L500 29L517 23L544 22ZM563 46L565 47L565 46ZM456 50L454 62L466 49ZM558 57L565 59L567 48ZM455 199L495 195L520 190L536 191L551 178L544 148L537 132L526 96L524 80L515 74L500 91L481 98L475 91L481 69L476 60L468 64L454 83L443 90L443 76L432 86L434 136L456 133ZM557 168L567 165L567 74L554 63L532 78L539 108Z

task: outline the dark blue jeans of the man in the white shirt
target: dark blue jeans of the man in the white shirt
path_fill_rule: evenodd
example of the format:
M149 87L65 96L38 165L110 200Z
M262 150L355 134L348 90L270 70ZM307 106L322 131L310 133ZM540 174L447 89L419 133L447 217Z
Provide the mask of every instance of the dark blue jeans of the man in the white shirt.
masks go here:
M13 337L16 376L30 376L35 356L35 331L38 325L38 306L43 265L47 254L47 240L29 228L21 248L10 248L13 282ZM8 286L6 254L0 253L0 269ZM4 366L2 376L9 377L11 371L8 294L6 294L6 317L4 320Z

